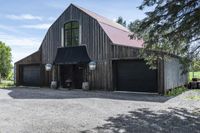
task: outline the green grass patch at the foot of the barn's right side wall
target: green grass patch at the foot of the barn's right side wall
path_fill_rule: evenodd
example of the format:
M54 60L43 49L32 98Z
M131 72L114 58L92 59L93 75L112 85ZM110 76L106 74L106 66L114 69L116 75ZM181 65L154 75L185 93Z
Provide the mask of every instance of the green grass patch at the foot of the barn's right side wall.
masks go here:
M165 95L166 96L178 96L178 95L182 94L185 91L187 91L187 88L185 88L184 86L180 86L180 87L171 89Z

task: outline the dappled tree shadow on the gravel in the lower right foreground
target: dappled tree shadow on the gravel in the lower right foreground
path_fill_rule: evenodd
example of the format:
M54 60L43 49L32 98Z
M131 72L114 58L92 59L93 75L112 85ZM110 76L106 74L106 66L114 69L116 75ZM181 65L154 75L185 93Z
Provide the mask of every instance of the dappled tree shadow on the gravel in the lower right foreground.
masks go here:
M170 111L151 111L147 108L110 117L107 124L96 127L94 132L109 133L200 133L200 110L188 112L184 108ZM82 133L90 133L86 130Z

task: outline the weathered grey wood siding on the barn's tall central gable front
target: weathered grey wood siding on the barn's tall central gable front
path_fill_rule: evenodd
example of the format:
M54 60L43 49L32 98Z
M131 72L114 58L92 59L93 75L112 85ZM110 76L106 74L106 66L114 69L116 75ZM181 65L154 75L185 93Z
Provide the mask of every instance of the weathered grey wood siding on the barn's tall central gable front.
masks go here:
M109 61L111 41L95 19L73 5L70 5L49 28L41 46L42 64L53 63L57 48L61 47L62 28L66 22L72 20L80 24L80 45L86 45L90 58L97 61L95 71L85 69L84 80L90 82L92 89L110 89L112 87ZM47 80L51 80L51 75L45 74L45 84L48 84Z

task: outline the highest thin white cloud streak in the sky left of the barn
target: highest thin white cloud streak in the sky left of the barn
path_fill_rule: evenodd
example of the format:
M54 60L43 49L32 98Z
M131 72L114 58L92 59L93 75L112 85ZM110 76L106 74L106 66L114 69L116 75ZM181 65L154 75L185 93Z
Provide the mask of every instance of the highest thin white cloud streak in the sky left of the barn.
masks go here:
M34 16L31 14L21 14L21 15L9 14L6 15L6 18L14 20L40 20L40 21L43 19L40 16Z

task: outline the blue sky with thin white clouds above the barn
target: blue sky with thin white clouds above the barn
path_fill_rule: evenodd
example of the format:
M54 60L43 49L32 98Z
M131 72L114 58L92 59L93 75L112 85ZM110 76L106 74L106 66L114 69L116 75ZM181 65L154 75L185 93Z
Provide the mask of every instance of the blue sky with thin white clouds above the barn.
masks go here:
M142 0L0 0L0 41L12 49L12 63L37 51L51 24L71 4L115 21L145 17Z

